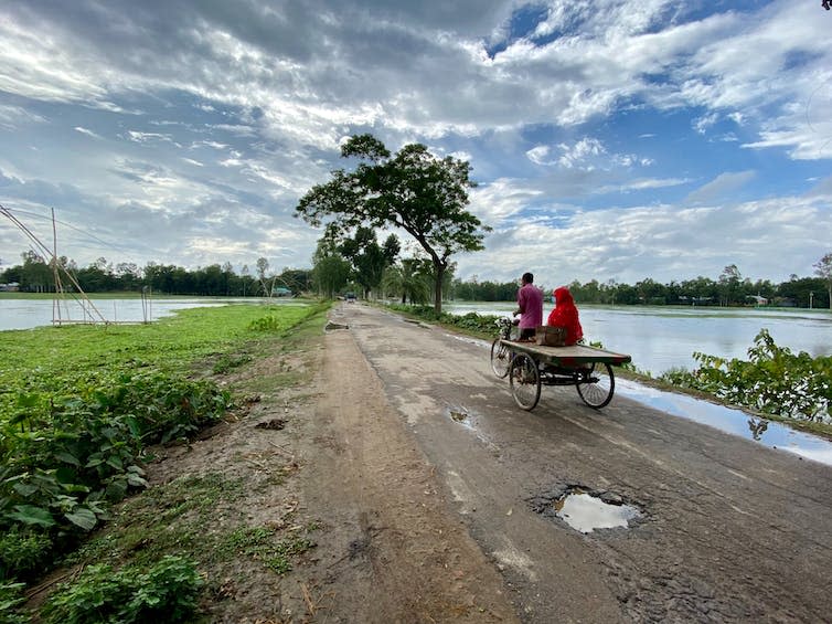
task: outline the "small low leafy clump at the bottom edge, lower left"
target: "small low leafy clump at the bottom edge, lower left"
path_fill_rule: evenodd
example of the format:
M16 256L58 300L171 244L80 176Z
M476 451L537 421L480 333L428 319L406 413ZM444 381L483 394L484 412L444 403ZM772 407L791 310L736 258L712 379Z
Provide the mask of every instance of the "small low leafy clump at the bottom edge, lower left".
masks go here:
M190 618L203 581L194 564L168 556L147 572L128 565L89 565L72 584L50 596L42 610L46 624L100 622L174 623Z

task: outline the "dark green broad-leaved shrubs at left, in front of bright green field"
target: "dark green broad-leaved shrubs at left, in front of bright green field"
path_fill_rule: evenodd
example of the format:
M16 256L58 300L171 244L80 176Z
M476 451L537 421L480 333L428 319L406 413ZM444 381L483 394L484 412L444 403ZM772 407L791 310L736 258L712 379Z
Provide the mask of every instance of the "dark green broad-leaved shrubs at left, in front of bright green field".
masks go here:
M153 369L92 374L72 394L28 393L0 420L0 529L93 529L108 501L147 485L148 444L186 437L231 404L213 381ZM28 561L3 559L0 579L25 574Z

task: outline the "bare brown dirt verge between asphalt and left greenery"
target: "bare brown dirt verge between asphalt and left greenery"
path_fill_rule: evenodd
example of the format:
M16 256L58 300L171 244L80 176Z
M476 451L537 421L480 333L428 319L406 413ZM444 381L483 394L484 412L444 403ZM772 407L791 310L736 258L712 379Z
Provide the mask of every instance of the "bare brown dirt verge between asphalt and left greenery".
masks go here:
M247 413L160 450L150 466L157 488L204 475L236 484L201 518L205 541L266 527L316 544L282 574L252 550L231 561L196 554L209 579L207 620L516 621L499 571L449 512L435 466L378 377L349 330L331 327L226 378L256 398ZM287 378L299 381L287 388ZM192 530L179 519L170 529Z

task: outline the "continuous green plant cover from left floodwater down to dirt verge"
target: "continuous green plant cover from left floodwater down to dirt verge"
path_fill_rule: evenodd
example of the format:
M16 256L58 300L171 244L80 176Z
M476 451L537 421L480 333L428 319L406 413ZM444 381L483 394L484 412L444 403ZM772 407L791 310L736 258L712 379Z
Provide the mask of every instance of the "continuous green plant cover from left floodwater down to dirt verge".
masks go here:
M288 331L326 307L270 316ZM0 332L0 581L42 572L107 520L111 503L145 487L150 444L224 415L230 392L195 369L254 352L248 324L262 315L227 306L147 326Z

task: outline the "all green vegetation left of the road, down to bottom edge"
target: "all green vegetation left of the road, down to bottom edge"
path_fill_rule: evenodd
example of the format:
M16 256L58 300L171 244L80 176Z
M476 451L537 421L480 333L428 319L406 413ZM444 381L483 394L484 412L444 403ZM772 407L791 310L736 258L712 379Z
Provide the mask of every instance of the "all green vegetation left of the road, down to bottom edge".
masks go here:
M131 553L141 569L90 572L55 599L53 618L45 621L132 622L146 621L157 606L169 615L188 611L192 563L160 558L189 542L222 543L222 535L204 539L204 514L233 499L238 487L217 475L173 482L131 499L141 503L128 505L129 521L124 511L114 518L114 504L147 486L151 444L185 441L235 406L234 396L205 376L273 352L290 329L322 318L328 307L206 307L152 325L0 332L0 621L18 617L21 582L103 525L119 530L87 542L68 561L86 562L85 553L105 543L97 562L109 558L115 567ZM298 539L276 544L269 561L288 569L288 558L309 547ZM203 553L198 562L210 558L193 550ZM95 589L103 580L109 584ZM164 594L179 581L177 592ZM84 613L88 601L100 602L100 618Z

